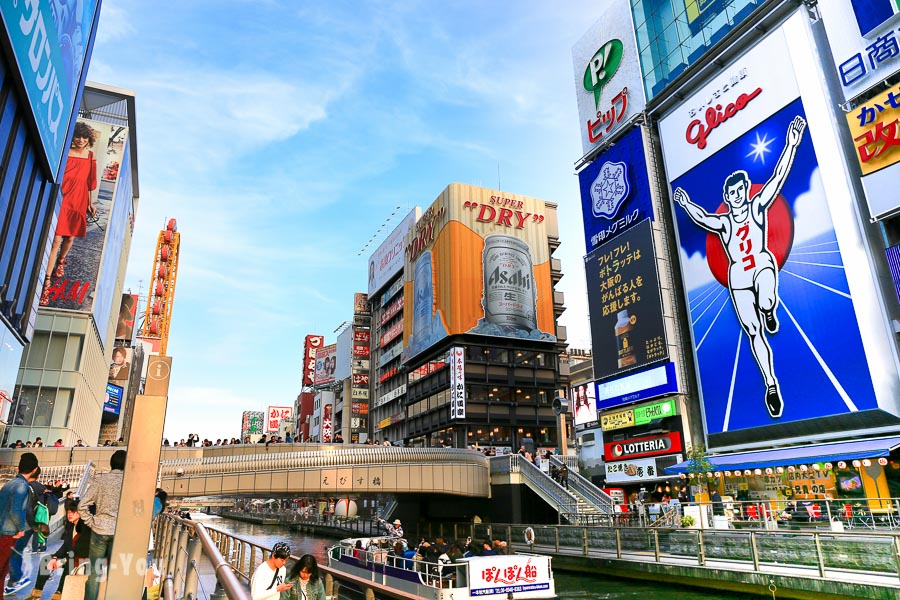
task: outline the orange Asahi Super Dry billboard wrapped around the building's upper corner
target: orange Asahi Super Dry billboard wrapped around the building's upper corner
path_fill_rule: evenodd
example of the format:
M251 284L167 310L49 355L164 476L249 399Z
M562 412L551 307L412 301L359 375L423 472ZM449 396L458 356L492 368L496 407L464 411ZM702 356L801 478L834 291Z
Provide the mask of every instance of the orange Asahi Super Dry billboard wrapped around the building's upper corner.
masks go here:
M556 341L543 200L453 183L406 239L403 361L463 333Z

